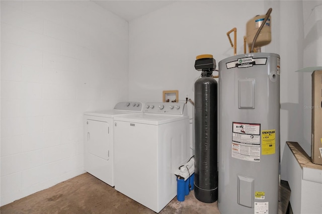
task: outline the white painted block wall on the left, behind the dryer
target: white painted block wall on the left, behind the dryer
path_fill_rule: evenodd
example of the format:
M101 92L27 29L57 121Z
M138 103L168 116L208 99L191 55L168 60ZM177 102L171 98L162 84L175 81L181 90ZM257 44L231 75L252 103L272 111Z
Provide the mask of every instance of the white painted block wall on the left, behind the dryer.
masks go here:
M128 99L128 23L88 1L1 1L1 205L84 172L83 113Z

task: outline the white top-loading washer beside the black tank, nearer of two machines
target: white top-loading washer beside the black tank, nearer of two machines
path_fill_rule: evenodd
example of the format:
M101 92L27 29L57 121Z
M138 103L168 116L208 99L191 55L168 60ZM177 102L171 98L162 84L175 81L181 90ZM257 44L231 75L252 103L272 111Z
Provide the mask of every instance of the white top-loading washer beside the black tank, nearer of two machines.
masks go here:
M177 195L174 172L189 161L185 103L147 102L114 118L115 189L155 212Z

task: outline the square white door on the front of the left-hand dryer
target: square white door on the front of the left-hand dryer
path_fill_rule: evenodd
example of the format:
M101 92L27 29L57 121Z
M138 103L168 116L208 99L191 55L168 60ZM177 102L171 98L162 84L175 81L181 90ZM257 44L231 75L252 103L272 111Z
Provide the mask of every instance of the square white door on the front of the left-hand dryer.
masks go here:
M105 160L109 159L109 124L87 120L87 151Z

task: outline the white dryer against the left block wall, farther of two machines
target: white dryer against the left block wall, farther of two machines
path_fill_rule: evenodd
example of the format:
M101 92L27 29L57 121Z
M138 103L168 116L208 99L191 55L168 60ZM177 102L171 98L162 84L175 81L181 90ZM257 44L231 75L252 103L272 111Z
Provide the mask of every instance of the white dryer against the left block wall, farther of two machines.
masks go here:
M118 102L113 110L84 113L84 169L105 183L114 186L113 118L142 114L141 102Z

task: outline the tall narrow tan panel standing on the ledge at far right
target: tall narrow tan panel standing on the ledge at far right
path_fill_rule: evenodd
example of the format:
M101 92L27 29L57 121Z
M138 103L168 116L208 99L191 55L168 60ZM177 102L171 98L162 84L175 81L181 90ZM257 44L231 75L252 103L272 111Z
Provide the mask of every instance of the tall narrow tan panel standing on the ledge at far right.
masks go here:
M312 73L312 163L322 165L322 70Z

